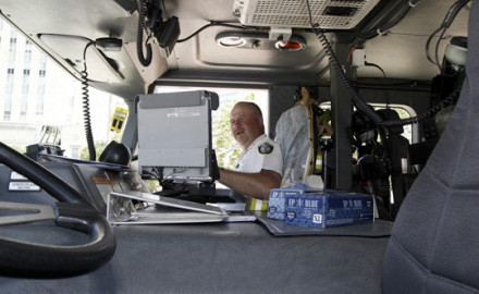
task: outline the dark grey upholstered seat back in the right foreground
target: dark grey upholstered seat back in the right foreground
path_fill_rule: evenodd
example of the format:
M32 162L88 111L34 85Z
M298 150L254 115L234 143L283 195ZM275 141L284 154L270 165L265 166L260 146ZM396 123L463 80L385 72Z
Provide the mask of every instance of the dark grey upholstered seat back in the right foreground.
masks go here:
M479 293L479 3L455 112L395 220L384 293ZM477 46L476 46L477 45Z

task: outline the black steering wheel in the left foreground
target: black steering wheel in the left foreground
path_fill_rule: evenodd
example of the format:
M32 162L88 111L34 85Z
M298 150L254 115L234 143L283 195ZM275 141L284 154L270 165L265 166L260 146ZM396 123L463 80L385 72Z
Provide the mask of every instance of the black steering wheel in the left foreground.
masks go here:
M2 217L4 220L0 221L0 225L52 219L58 226L89 235L87 244L73 246L0 236L0 274L21 278L73 277L98 269L111 259L116 248L113 230L105 216L95 210L76 189L2 143L0 162L28 177L60 201L52 206L0 203L0 208L40 212L38 216Z

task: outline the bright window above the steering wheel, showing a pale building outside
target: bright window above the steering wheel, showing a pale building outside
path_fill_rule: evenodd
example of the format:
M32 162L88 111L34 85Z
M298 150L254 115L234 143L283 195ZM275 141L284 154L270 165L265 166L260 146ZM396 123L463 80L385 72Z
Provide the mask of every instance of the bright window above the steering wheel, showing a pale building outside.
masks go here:
M64 156L88 159L79 81L7 22L0 26L0 142L21 152L41 140L61 143ZM121 139L122 133L110 131L110 124L116 107L127 107L122 98L88 89L99 157L111 139Z

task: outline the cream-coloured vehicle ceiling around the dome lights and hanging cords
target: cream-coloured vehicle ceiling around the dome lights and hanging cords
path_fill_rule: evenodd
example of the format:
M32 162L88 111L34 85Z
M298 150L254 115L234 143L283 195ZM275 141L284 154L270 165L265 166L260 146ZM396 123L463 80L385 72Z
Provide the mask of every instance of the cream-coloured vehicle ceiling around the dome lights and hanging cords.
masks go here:
M241 25L238 17L233 15L234 0L158 1L163 9L163 19L179 19L180 39L189 36L210 21ZM305 0L291 2L306 7ZM380 1L372 12L381 13L379 8L386 2ZM430 81L439 71L426 59L425 45L428 36L440 26L454 2L420 1L386 34L365 42L366 60L381 66L389 78ZM285 52L277 50L268 39L262 39L261 45L269 45L256 49L221 47L216 41L218 34L244 29L212 26L187 41L177 42L168 59L161 58L157 46L153 46L153 62L145 68L138 63L136 57L136 7L135 0L0 0L3 16L77 78L81 78L83 51L89 40L102 37L121 38L123 50L101 52L89 49L86 60L91 85L127 99L146 90L156 79L259 84L295 84L302 81L328 83L328 61L322 46L318 38L305 28L294 28L293 33L306 39L306 49ZM445 40L441 42L440 56L452 36L467 35L467 16L468 11L463 9L447 29ZM371 19L371 14L367 15L360 25L367 25L367 20ZM268 28L261 27L260 30L265 29ZM433 45L435 40L437 38L433 39ZM376 68L360 68L357 76L382 77L382 73Z

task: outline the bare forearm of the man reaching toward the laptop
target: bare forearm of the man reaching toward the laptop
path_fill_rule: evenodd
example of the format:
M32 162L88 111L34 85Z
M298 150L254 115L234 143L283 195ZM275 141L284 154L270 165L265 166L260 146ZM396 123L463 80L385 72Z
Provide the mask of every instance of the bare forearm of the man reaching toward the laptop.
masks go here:
M281 175L269 170L245 173L220 169L219 182L246 196L269 199L270 189L280 187Z

